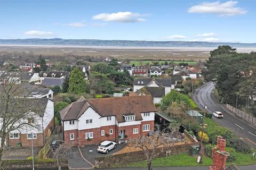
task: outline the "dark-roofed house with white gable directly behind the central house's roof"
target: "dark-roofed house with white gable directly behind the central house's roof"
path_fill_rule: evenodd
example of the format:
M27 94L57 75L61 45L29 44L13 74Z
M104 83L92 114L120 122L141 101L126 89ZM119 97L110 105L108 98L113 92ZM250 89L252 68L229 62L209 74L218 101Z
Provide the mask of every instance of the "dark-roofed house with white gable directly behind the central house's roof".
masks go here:
M135 91L138 96L150 95L154 101L154 104L160 103L163 96L165 96L164 87L142 87L141 89Z

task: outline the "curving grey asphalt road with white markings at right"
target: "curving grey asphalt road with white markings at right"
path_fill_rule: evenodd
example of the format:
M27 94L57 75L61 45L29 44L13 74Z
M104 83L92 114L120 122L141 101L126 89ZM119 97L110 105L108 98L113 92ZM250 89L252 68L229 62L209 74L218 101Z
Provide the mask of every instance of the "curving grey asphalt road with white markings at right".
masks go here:
M246 143L256 149L256 129L241 121L238 117L230 114L225 106L218 103L214 97L214 84L209 82L194 91L193 99L200 109L207 106L207 112L220 111L223 118L215 118L213 120L220 125L229 128L237 137L242 138Z

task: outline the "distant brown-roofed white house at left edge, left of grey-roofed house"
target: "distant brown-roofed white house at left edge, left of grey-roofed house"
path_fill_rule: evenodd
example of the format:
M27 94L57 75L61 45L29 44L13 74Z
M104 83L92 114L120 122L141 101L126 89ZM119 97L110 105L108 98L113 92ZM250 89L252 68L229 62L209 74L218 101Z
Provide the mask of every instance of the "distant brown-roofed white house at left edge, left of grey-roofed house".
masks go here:
M40 80L38 73L30 72L3 72L0 75L0 83L15 82L21 84L24 82L32 83Z

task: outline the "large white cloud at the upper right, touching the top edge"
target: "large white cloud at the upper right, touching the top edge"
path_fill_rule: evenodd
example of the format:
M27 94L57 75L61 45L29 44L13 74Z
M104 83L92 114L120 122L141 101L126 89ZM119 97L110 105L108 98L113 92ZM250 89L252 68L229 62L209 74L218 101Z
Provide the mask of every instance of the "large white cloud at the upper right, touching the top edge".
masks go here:
M236 7L237 1L228 1L225 3L203 2L199 5L192 6L188 9L189 13L215 13L220 16L233 16L246 14L244 8Z

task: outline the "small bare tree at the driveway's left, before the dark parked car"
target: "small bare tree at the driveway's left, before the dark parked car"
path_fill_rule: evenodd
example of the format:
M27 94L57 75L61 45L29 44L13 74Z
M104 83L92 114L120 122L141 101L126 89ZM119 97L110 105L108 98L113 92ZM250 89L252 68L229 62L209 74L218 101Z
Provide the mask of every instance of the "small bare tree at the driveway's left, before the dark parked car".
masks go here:
M50 147L52 156L55 159L55 164L58 166L59 170L61 170L62 159L66 158L66 156L70 154L75 155L75 152L72 151L73 146L74 146L74 143L71 143L71 142L64 143L64 141L61 141L60 144L55 149Z

